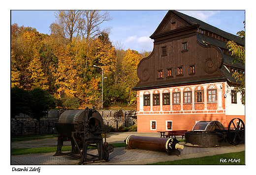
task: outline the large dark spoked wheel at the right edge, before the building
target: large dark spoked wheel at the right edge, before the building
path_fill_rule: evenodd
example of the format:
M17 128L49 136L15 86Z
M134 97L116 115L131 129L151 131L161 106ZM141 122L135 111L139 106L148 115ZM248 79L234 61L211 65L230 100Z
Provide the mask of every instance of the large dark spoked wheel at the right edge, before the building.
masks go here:
M234 123L234 121L236 121L236 123ZM229 122L227 138L228 142L232 145L239 145L245 141L245 124L241 119L235 118Z

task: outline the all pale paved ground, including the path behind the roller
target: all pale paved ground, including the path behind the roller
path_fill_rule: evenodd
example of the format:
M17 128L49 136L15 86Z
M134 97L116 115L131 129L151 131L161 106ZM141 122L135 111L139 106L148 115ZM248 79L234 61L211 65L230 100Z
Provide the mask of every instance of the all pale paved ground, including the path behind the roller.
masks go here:
M124 143L124 140L128 135L140 135L140 136L151 136L151 137L160 137L159 133L115 133L109 134L107 142L111 143ZM48 140L49 141L49 140ZM47 141L47 142L48 142ZM32 141L29 141L30 145ZM18 142L17 142L18 143ZM12 148L16 147L17 143L12 143ZM185 144L185 143L180 143ZM20 142L20 145L23 143ZM27 145L29 145L27 143ZM39 144L37 144L39 145ZM57 146L56 142L53 143L54 146ZM216 154L223 154L228 152L239 152L245 150L244 145L239 146L228 146L228 147L219 147L219 148L193 148L193 147L184 147L179 156L177 155L168 155L167 152L157 152L150 150L125 150L122 148L114 148L114 151L109 155L109 161L105 162L95 162L94 165L105 164L105 165L144 165L147 163L156 163L160 161L170 161L178 159L187 159L193 157L203 157L211 156ZM96 150L89 150L89 153L96 154ZM17 155L11 156L11 165L76 165L79 162L79 159L62 155L62 156L53 156L52 153L43 153L43 154L27 154L27 155ZM91 162L90 162L91 163Z

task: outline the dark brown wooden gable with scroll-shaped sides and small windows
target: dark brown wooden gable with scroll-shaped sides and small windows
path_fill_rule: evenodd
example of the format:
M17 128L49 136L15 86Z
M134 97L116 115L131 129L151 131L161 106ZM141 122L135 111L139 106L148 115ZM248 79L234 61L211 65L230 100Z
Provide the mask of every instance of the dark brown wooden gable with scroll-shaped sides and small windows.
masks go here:
M138 64L140 81L133 89L225 80L219 70L223 53L214 45L198 42L196 33L199 27L175 11L168 11L150 36L154 39L154 49Z

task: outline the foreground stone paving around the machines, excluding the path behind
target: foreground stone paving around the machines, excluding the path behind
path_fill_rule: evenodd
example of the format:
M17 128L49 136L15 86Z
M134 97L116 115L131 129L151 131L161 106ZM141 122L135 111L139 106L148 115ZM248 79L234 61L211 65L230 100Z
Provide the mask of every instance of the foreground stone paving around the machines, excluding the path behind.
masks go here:
M214 151L216 154L220 150L232 150L237 149L244 150L244 145L240 146L229 146L229 147L219 147L219 148L193 148L193 147L185 147L181 150L181 156L186 156L188 154L193 153L205 153L204 156L207 156L207 152ZM97 150L90 150L88 153L97 154ZM52 155L30 155L30 156L22 156L22 157L12 157L11 158L11 165L76 165L80 161L79 158L71 157L68 155L61 155L61 156L53 156ZM158 151L150 151L150 150L125 150L124 147L122 148L115 148L113 152L109 155L109 161L104 162L95 162L94 164L130 164L130 161L141 160L142 164L146 164L148 159L154 158L171 158L177 155L168 155L167 152L158 152ZM186 158L186 157L184 157ZM92 162L87 162L92 163ZM140 164L141 164L140 163Z

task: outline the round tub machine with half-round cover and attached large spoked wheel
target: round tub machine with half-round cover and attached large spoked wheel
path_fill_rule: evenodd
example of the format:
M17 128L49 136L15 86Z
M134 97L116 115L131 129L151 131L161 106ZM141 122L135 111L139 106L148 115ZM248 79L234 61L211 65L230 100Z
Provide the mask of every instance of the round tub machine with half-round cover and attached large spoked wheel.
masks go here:
M245 142L245 124L239 118L232 119L227 128L219 121L200 121L192 131L185 133L185 146L227 146Z

